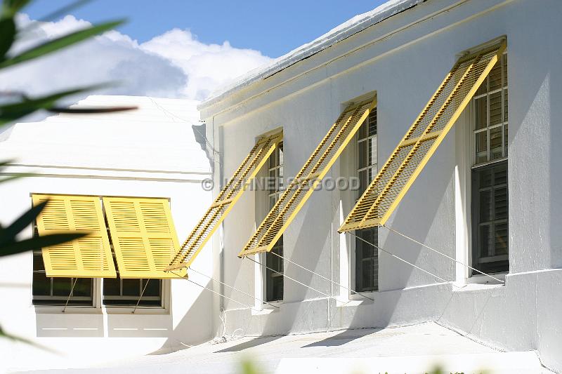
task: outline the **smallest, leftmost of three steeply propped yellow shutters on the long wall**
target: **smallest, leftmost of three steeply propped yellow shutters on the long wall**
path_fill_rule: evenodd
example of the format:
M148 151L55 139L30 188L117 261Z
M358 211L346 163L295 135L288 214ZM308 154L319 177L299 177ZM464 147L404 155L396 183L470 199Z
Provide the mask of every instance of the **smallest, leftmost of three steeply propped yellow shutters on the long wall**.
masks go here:
M216 229L221 225L221 222L226 218L226 215L228 215L236 201L240 199L251 180L256 177L256 174L260 171L263 164L266 163L268 157L273 153L273 150L281 140L282 135L273 135L261 138L256 143L227 185L216 196L215 201L203 215L203 218L197 222L188 239L185 239L180 251L178 251L174 260L170 263L169 270L189 267L192 264L197 254L200 253L207 241L211 239L211 236L216 232Z

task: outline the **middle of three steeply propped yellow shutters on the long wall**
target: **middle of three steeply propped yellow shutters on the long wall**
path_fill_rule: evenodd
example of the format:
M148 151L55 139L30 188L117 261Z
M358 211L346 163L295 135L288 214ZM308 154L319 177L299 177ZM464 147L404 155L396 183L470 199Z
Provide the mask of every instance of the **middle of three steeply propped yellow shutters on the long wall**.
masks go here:
M376 105L377 99L375 98L349 105L344 112L341 112L339 118L277 200L275 206L271 208L238 257L271 251Z

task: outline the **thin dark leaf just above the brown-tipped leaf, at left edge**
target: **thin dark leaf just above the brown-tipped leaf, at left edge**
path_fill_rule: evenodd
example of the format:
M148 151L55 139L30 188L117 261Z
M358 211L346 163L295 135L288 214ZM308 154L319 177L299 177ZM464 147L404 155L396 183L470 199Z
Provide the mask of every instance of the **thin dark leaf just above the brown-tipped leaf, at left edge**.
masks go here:
M35 99L25 99L21 102L16 102L13 104L0 105L0 126L15 121L22 116L27 116L27 114L32 114L39 109L50 109L55 105L57 100L65 98L66 96L76 95L77 93L84 93L86 91L93 91L98 88L104 88L109 86L109 84L98 84L95 86L89 86L84 88L75 88L73 90L62 91L59 93L53 93L51 95L43 96L41 98Z

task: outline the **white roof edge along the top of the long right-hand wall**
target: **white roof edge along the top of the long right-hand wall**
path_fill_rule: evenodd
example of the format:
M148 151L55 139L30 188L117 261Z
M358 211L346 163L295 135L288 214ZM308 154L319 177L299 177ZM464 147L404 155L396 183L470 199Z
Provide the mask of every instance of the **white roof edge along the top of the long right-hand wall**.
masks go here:
M280 58L276 58L269 65L253 69L247 74L240 77L228 86L223 86L217 91L212 93L209 98L204 100L200 108L207 107L215 102L222 100L226 95L230 95L240 89L253 84L255 81L261 79L266 79L282 69L285 69L296 62L299 62L305 58L318 53L329 46L342 41L353 34L376 25L377 23L390 18L400 12L403 12L409 8L416 6L426 0L388 0L386 3L377 6L372 11L367 13L362 13L360 15L355 15L355 17L342 23L341 25L334 27L334 29L329 30L326 34L314 39L310 43L303 44L299 48L282 55Z

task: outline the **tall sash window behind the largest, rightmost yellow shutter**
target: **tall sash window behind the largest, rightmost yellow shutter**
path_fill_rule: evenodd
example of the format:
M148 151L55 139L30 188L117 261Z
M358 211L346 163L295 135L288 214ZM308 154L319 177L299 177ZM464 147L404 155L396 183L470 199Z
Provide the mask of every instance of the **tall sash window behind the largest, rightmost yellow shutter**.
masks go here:
M481 272L509 271L507 53L473 97L472 262Z

